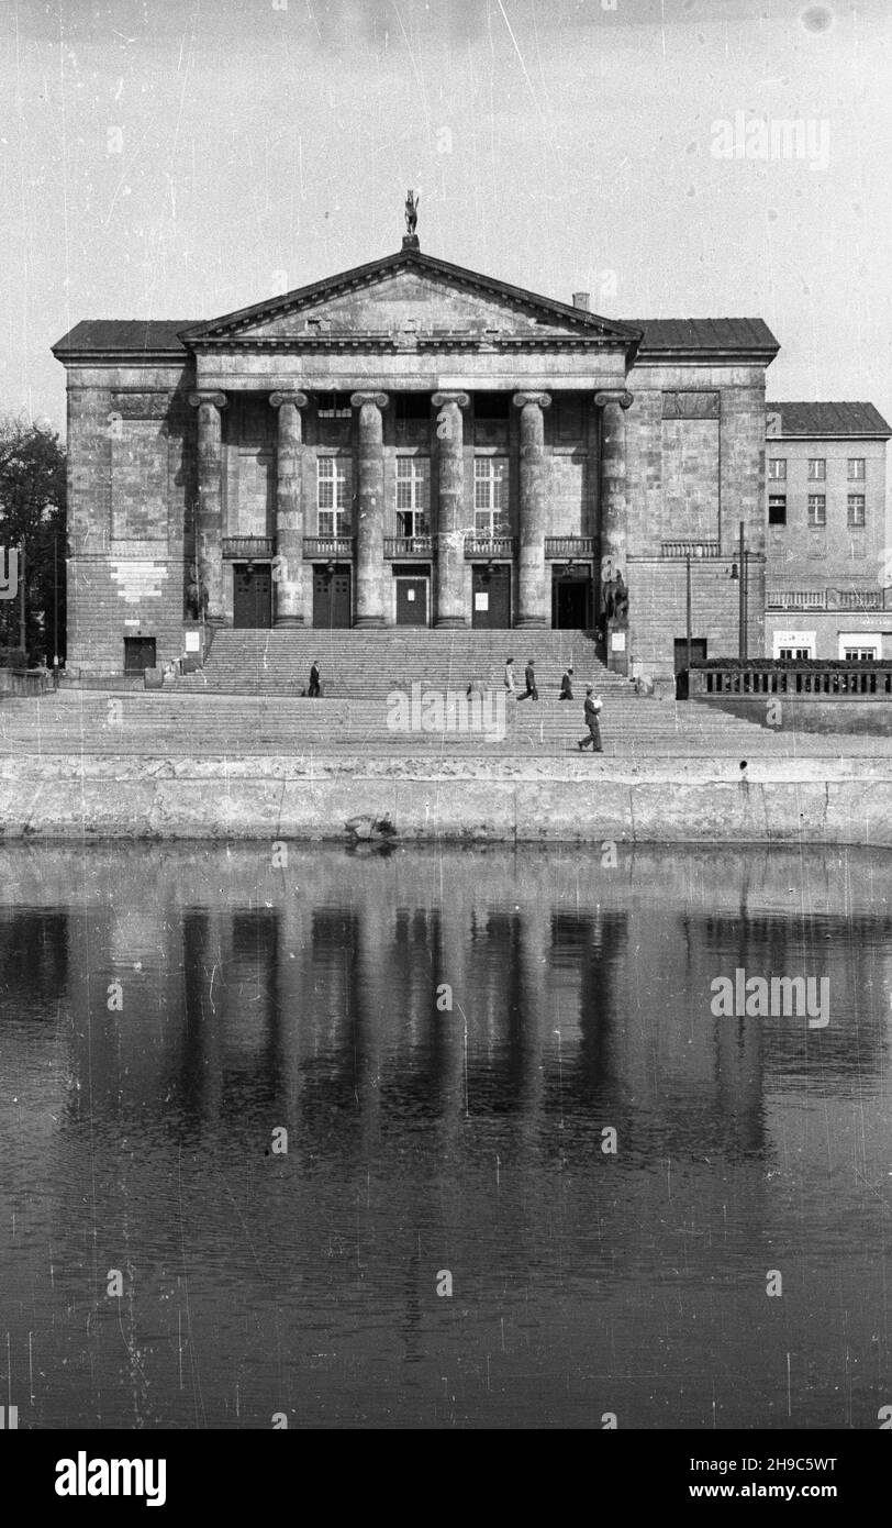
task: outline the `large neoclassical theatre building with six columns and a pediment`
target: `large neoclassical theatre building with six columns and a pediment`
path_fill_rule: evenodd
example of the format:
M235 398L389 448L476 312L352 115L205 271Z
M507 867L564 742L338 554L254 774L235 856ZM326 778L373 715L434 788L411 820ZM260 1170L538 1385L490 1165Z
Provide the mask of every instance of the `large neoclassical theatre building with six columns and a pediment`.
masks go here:
M235 626L594 630L672 672L765 608L758 318L614 321L438 260L382 260L209 322L86 319L69 400L69 671ZM611 623L612 625L612 623Z

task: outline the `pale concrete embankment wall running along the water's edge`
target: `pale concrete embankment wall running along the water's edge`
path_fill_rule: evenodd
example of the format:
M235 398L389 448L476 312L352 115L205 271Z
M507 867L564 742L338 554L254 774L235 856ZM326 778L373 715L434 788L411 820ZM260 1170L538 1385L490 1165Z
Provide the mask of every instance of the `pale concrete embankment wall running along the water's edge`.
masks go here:
M852 843L892 848L892 758L0 759L6 839Z

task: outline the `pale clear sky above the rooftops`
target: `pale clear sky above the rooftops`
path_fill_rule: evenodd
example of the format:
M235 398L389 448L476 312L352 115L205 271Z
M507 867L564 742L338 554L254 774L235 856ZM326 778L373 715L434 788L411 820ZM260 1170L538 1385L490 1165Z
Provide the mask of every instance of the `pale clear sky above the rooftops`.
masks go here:
M6 0L0 413L82 318L399 248L608 318L761 316L892 422L892 0ZM794 124L784 130L782 124Z

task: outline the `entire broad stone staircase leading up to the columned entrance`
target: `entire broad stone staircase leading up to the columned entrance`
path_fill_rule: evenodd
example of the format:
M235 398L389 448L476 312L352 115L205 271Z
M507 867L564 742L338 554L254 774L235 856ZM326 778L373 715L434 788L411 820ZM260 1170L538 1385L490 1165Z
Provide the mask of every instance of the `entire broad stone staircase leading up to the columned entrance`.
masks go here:
M504 659L513 654L518 697L524 666L536 662L539 700L504 698ZM302 698L310 663L319 660L322 698ZM574 700L558 698L567 663ZM464 698L469 680L492 689L504 712L480 718L483 730L435 724L415 707L396 726L394 691L448 692ZM579 631L221 631L202 672L133 691L64 688L0 704L0 753L121 753L150 756L380 755L558 756L576 752L585 732L582 701L593 683L603 700L605 753L617 758L875 753L875 738L784 733L706 703L640 695L599 662ZM504 718L501 727L493 721ZM419 726L419 721L422 723ZM487 724L489 723L489 724ZM883 752L880 749L880 752Z

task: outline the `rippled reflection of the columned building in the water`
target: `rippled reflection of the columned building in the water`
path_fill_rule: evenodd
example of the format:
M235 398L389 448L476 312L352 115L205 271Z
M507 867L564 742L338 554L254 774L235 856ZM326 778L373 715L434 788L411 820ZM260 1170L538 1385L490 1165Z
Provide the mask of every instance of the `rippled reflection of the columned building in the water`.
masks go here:
M70 1001L75 1057L89 1016L81 1062L98 1097L139 1099L197 1132L220 1117L237 1134L338 1117L344 1135L364 1112L377 1129L403 1115L609 1109L667 1151L692 1134L706 1151L759 1151L767 1057L773 1071L800 1065L816 1034L716 1022L712 979L735 964L829 972L851 996L865 949L881 987L892 937L868 909L803 918L759 911L751 889L732 905L703 862L680 909L648 895L646 866L628 882L583 862L580 879L579 863L556 874L530 857L516 874L503 851L454 856L437 874L423 854L316 851L290 876L247 848L225 874L212 853L192 854L185 877L173 859L156 856L128 898L105 862L90 906L73 909L76 938L58 909L35 909L0 926L0 952L8 1001ZM107 1007L112 981L125 1018ZM451 1008L437 1004L446 986ZM822 1067L877 1068L883 1042L878 1024L855 1033L842 1002Z

